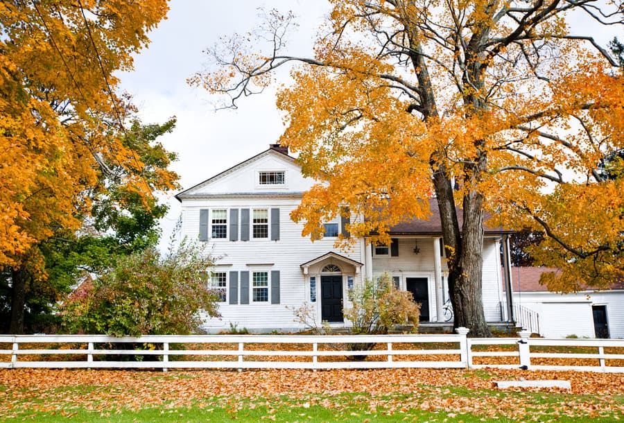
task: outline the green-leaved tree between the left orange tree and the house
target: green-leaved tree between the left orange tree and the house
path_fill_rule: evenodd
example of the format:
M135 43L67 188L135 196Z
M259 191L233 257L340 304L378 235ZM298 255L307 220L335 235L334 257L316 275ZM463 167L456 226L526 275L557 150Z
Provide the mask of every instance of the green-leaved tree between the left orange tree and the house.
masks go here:
M176 159L165 150L158 138L171 132L175 119L160 124L141 124L133 120L122 137L132 146L143 166L129 171L141 173L154 191L166 192L177 187L177 175L168 170ZM112 176L100 174L98 184L89 190L92 203L80 230L58 227L48 239L31 250L42 258L40 273L26 273L24 282L24 329L28 332L50 333L58 327L55 304L78 286L87 275L102 275L120 258L153 247L159 240L158 219L168 206L156 197L141 198L128 189L121 176L127 171L115 169ZM44 275L42 275L44 273ZM44 277L42 277L44 276ZM0 274L0 331L9 331L11 316L12 278L10 272Z

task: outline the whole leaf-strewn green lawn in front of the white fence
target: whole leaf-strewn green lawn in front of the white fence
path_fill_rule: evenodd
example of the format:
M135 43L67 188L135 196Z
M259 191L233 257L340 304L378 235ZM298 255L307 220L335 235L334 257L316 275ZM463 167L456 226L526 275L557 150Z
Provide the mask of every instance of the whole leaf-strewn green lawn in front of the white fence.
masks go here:
M624 419L622 376L570 373L573 386L580 387L571 392L494 388L492 380L510 379L514 374L544 378L542 374L528 372L501 374L487 370L167 373L6 370L0 372L0 421L614 422ZM593 384L588 380L593 380ZM594 390L596 395L592 393Z

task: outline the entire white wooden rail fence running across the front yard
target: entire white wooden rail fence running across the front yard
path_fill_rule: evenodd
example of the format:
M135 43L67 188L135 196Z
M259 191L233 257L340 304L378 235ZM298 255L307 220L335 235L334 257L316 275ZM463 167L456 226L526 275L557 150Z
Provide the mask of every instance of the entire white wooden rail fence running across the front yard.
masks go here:
M519 338L467 338L466 334L467 329L460 328L458 334L449 335L206 335L140 338L0 335L0 368L317 370L517 369L526 366L523 368L530 370L624 372L624 340L529 338L528 332ZM374 343L377 347L368 351L353 349L354 345L366 343ZM115 348L111 349L111 345L115 345ZM122 345L128 347L124 349ZM554 347L557 352L544 352L544 347ZM132 356L134 361L121 360L120 356ZM354 356L360 356L360 359L366 357L365 360L354 360ZM582 360L582 365L575 364L579 360ZM566 364L565 361L571 363Z

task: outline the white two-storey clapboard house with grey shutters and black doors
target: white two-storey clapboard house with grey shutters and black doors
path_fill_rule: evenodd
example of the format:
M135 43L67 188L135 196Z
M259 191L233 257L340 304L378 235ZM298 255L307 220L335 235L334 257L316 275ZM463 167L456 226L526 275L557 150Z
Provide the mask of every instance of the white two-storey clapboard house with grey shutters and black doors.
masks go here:
M399 289L422 304L422 325L447 321L448 300L440 219L432 202L429 221L393 227L392 243L374 246L357 239L345 252L334 247L345 219L325 223L325 236L312 242L291 221L313 181L278 144L177 194L182 202L182 231L209 243L217 257L212 282L220 291L222 318L207 319L210 332L234 325L250 331L303 329L293 309L308 303L318 325L342 327L347 291L365 278L389 273ZM508 232L485 228L483 304L488 322L501 324L503 304L501 243ZM447 303L448 304L448 303ZM448 305L446 306L448 307Z

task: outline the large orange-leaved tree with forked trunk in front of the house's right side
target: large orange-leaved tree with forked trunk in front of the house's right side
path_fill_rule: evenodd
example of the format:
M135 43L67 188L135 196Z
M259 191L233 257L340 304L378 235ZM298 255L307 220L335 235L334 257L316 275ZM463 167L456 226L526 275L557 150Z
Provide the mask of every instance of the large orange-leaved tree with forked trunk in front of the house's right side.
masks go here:
M210 49L216 67L190 80L235 107L294 64L277 105L286 112L280 141L319 181L293 213L304 234L322 236L322 221L348 206L365 217L351 223L353 236L388 243L389 227L427 217L433 195L454 325L472 336L489 336L486 212L490 225L546 233L533 253L562 268L550 286L609 286L623 268L624 190L599 164L624 147L623 76L566 15L617 31L621 8L593 0L330 3L311 57L287 51L293 16L274 11L256 33ZM258 51L263 40L268 49Z

